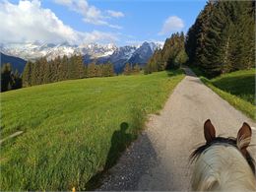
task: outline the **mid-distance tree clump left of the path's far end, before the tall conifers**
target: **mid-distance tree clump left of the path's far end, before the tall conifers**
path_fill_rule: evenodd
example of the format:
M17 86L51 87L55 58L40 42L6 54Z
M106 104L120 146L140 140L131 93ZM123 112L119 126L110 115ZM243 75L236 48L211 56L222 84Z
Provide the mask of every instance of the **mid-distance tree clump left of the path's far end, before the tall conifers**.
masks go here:
M164 42L162 49L156 50L145 68L145 74L166 69L178 68L187 61L183 32L172 33Z

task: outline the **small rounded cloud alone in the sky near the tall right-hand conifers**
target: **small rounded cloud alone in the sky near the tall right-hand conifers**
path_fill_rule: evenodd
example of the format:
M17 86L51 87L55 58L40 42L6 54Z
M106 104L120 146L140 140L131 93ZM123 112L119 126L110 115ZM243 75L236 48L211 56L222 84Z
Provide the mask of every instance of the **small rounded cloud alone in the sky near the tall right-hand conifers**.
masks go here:
M180 32L184 28L184 22L177 16L168 17L159 32L162 34L169 34L171 32Z

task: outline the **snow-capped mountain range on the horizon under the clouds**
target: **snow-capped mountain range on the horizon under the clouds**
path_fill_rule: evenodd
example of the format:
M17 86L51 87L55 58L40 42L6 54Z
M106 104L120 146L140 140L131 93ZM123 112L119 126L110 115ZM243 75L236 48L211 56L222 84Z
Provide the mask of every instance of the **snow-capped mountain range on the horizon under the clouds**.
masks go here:
M53 43L8 43L0 44L0 52L20 57L24 60L35 60L40 57L46 57L48 60L58 56L68 57L74 54L82 54L86 64L93 61L96 64L111 62L114 65L116 73L122 71L126 63L131 65L139 64L144 66L156 49L162 48L161 42L143 42L139 45L116 46L115 44L81 44L72 45L68 42L61 44ZM3 62L3 61L2 61ZM19 71L21 71L19 69Z

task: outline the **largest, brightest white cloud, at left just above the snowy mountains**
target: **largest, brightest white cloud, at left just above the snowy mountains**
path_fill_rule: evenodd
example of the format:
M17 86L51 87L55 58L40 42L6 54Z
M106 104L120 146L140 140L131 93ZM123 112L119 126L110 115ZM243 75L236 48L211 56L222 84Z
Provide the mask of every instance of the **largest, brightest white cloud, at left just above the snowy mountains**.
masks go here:
M61 0L69 2L71 0ZM63 24L49 9L41 8L39 0L20 1L18 5L0 2L1 42L53 42L83 43L115 41L117 36L109 32L77 32Z

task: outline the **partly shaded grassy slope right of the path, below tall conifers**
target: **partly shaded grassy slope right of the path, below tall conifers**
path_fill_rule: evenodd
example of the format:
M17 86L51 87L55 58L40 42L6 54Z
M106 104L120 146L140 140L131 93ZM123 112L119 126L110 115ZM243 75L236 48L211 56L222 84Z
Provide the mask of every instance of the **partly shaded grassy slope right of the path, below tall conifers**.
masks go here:
M202 76L197 68L193 71L219 96L222 96L235 108L256 119L255 111L255 69L240 70L224 74L212 80Z

